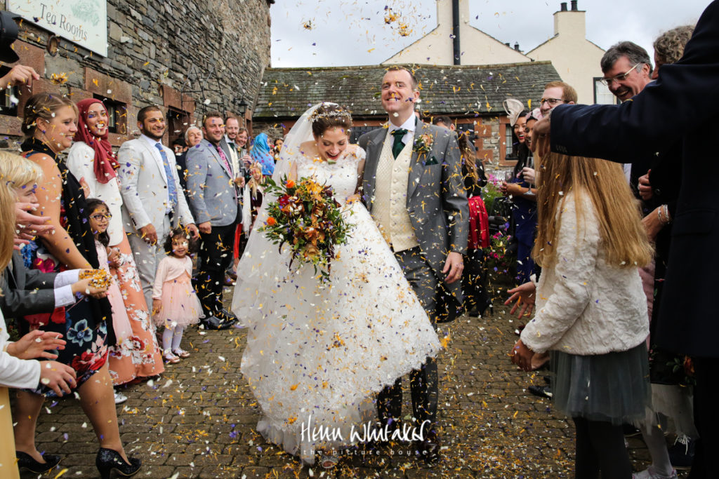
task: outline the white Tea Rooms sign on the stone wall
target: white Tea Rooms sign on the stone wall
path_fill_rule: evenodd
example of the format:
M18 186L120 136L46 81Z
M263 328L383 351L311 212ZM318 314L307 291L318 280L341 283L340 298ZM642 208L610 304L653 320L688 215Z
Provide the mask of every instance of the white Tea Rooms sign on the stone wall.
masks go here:
M105 0L7 0L6 8L25 22L33 22L59 37L107 56Z

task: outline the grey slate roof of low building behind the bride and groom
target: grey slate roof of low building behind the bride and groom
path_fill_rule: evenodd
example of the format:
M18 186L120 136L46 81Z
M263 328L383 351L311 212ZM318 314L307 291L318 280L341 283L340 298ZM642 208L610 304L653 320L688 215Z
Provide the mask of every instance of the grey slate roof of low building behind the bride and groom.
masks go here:
M334 101L355 117L383 116L380 83L386 65L327 68L267 68L252 117L255 121L297 118L309 106ZM517 98L536 106L544 85L561 80L549 61L504 65L417 65L419 108L430 114L504 114L502 101Z

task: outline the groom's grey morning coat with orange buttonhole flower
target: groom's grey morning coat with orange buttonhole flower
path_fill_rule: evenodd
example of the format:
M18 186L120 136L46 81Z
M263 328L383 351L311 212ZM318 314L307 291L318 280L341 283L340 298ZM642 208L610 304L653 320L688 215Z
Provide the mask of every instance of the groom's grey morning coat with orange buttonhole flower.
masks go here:
M359 146L367 152L362 199L372 212L375 200L377 163L388 129L376 129L359 137ZM457 135L440 126L417 121L414 139L423 134L434 138L429 154L412 152L407 184L407 211L419 248L437 278L444 279L447 254L467 253L469 207L462 180ZM462 303L462 281L441 282L452 293L457 305Z

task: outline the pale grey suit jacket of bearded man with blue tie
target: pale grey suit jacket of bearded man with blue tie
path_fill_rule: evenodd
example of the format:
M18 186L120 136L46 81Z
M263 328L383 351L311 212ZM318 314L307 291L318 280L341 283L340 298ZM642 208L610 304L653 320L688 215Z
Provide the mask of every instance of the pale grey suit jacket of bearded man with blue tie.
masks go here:
M175 153L162 146L170 163L178 192L178 205L175 209L173 225L195 223L182 194ZM153 151L154 150L154 151ZM168 177L162 166L160 154L144 138L125 141L117 153L120 167L117 177L120 180L122 195L122 220L127 233L137 233L139 228L152 223L155 229L165 220L165 203L168 200Z

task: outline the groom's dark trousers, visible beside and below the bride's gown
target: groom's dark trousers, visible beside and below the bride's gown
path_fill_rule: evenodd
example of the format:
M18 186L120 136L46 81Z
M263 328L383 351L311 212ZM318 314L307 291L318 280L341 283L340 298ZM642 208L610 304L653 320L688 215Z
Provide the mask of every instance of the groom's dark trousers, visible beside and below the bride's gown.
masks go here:
M436 297L438 282L434 271L419 254L419 248L411 248L395 253L398 263L412 289L419 297L424 310L429 315L432 326L436 329ZM412 396L412 411L419 428L429 421L424 431L436 429L437 397L437 363L434 358L427 358L420 369L409 374L409 386ZM382 424L394 424L402 417L402 378L398 378L392 386L387 386L377 394L377 414ZM419 431L419 429L417 429Z

